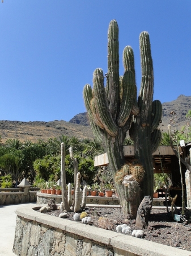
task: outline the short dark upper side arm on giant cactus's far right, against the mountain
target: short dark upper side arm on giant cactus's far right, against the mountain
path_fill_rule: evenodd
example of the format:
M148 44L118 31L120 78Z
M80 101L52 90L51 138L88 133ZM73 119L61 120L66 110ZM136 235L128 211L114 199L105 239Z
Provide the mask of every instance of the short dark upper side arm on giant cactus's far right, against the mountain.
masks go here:
M162 104L160 101L155 100L152 102L151 115L151 129L155 130L159 126L160 119L162 118Z

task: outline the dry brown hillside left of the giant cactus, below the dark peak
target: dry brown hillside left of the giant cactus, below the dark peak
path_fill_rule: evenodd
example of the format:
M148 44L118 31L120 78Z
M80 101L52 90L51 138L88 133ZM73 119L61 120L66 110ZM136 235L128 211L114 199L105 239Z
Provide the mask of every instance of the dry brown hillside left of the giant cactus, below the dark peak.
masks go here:
M22 142L28 139L37 142L39 139L58 138L62 134L69 137L75 136L79 139L93 137L90 126L77 125L62 120L51 122L0 121L2 143L5 143L7 139L19 139Z

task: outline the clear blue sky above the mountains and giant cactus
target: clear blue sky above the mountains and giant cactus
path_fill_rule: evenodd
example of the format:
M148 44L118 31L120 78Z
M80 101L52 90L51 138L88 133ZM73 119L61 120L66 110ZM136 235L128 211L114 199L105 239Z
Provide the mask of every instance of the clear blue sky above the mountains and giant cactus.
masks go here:
M4 0L0 2L0 120L69 121L85 112L92 73L107 73L107 32L116 19L122 51L133 47L138 90L139 34L148 31L154 100L190 96L190 0Z

